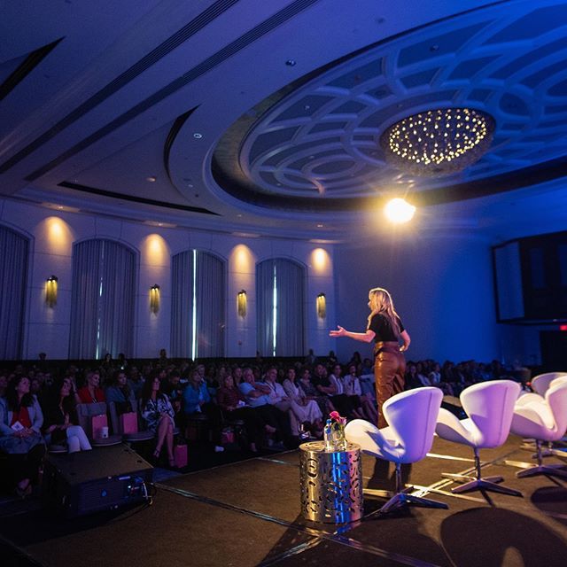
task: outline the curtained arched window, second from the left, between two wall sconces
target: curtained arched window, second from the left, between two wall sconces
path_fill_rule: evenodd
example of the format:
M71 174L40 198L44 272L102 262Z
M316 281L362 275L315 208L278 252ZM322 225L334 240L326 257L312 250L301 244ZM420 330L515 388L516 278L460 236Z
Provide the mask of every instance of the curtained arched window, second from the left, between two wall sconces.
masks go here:
M73 246L69 357L133 354L136 253L113 240Z

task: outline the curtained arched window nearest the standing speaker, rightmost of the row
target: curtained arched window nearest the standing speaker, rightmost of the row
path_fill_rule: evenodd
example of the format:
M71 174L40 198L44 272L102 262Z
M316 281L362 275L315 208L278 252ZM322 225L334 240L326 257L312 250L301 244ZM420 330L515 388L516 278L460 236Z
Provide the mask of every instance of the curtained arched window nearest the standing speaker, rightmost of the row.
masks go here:
M305 353L305 269L275 258L256 267L257 345L262 356Z

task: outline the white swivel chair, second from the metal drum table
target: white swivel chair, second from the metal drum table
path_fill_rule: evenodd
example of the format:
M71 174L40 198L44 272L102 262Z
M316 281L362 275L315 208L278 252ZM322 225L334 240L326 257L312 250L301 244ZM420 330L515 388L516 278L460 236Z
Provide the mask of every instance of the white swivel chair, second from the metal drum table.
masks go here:
M521 496L522 493L499 483L502 477L481 477L478 450L500 447L508 438L514 404L520 393L520 384L511 380L493 380L473 384L461 392L462 408L467 419L459 420L447 409L439 410L436 433L442 439L472 447L475 454L476 477L443 473L443 477L454 480L469 480L455 487L453 493L469 490L492 490L498 493Z

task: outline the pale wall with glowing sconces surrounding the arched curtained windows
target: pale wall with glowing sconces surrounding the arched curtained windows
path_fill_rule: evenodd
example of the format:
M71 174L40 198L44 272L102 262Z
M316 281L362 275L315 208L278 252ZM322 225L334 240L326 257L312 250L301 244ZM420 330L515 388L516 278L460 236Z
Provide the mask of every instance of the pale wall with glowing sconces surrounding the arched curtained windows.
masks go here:
M196 248L213 252L227 260L227 318L225 353L227 356L253 356L256 353L255 265L268 258L296 260L307 271L306 352L328 350L327 320L335 319L333 249L299 240L242 238L190 229L152 227L142 222L120 221L90 214L50 210L12 200L0 200L0 223L31 238L24 358L35 359L45 352L49 359L68 356L72 249L76 241L105 237L129 245L138 252L139 275L136 291L134 357L157 357L160 348L169 352L171 322L171 256ZM1 251L0 251L1 252ZM58 301L45 304L45 280L58 277ZM151 285L160 286L160 308L150 311ZM245 318L237 315L237 292L247 292ZM325 293L327 320L315 312L315 298ZM116 356L118 353L113 353Z

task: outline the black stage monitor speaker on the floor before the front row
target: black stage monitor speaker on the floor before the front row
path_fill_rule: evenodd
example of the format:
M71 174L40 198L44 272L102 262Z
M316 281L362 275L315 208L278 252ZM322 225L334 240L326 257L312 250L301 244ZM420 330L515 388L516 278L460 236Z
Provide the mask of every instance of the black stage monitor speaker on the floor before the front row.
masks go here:
M153 478L149 462L125 445L70 454L48 454L43 504L66 517L144 501Z

